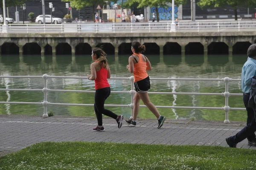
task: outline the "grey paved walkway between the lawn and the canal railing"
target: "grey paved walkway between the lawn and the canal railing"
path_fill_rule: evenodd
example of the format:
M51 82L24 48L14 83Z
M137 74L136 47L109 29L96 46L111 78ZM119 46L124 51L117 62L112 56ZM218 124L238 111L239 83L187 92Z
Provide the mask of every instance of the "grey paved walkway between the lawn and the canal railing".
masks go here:
M105 132L94 132L97 120L88 117L0 116L0 156L39 142L115 142L138 144L211 145L227 147L225 138L235 135L245 122L166 120L157 129L156 120L138 121L137 127L103 119ZM237 147L256 149L247 139Z

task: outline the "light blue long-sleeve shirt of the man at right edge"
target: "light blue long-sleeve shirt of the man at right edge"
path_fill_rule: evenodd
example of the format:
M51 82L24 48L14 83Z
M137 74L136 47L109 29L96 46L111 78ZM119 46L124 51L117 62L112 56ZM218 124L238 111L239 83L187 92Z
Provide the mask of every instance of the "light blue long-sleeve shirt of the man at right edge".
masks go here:
M250 93L253 77L256 77L256 60L249 58L242 68L241 86L244 93Z

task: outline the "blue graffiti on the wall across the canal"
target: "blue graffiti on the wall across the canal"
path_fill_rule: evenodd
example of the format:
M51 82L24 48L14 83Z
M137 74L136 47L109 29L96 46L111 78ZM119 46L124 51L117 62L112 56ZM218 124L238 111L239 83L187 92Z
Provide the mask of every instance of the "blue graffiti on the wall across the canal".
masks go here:
M172 7L167 8L158 8L159 12L159 20L172 20ZM155 13L156 15L156 7L151 8L151 17L152 14ZM178 7L174 7L174 17L178 17Z

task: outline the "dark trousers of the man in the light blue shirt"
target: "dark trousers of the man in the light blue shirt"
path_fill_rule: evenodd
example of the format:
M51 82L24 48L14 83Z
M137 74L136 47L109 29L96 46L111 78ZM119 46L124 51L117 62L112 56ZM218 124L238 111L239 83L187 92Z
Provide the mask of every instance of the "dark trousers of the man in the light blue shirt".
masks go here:
M248 141L251 141L256 138L255 136L256 122L255 122L253 108L248 108L249 99L250 99L250 94L244 94L243 100L244 100L244 106L247 111L247 126L244 127L242 130L240 130L239 133L236 133L235 136L232 136L233 142L235 143L239 143L246 138L248 139Z

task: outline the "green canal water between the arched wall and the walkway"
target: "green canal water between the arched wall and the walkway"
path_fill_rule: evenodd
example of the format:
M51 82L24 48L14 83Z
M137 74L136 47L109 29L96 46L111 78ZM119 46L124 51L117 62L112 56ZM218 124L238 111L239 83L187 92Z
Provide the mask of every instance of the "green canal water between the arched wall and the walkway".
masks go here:
M108 56L112 77L130 77L126 70L129 55ZM247 60L246 55L187 55L181 56L148 56L152 64L152 71L148 74L152 78L224 78L240 79L241 68ZM88 56L1 56L1 76L84 76L90 73L92 60ZM131 83L128 80L109 80L112 91L129 91ZM47 84L50 89L65 90L94 90L94 82L87 79L55 79L50 78ZM44 87L43 79L35 78L1 78L0 88L35 88ZM221 93L225 91L225 84L207 81L151 81L151 92L198 92L198 93ZM241 83L230 83L231 93L241 93ZM200 107L223 107L223 96L193 96L193 95L150 95L154 105L165 106L200 106ZM0 101L6 102L42 102L42 92L0 92ZM85 93L62 93L49 92L49 102L55 103L80 103L93 104L94 94ZM128 105L131 103L129 94L111 94L106 104ZM143 105L143 103L141 103ZM241 96L229 98L230 107L243 108ZM129 108L108 108L125 117L131 115ZM59 116L95 116L93 107L76 106L49 106ZM3 105L0 104L0 114L11 115L43 115L44 108L39 105ZM225 112L216 110L189 110L189 109L159 109L161 115L168 119L200 119L224 121ZM154 118L147 108L140 108L140 118ZM245 111L230 111L230 121L246 121Z

